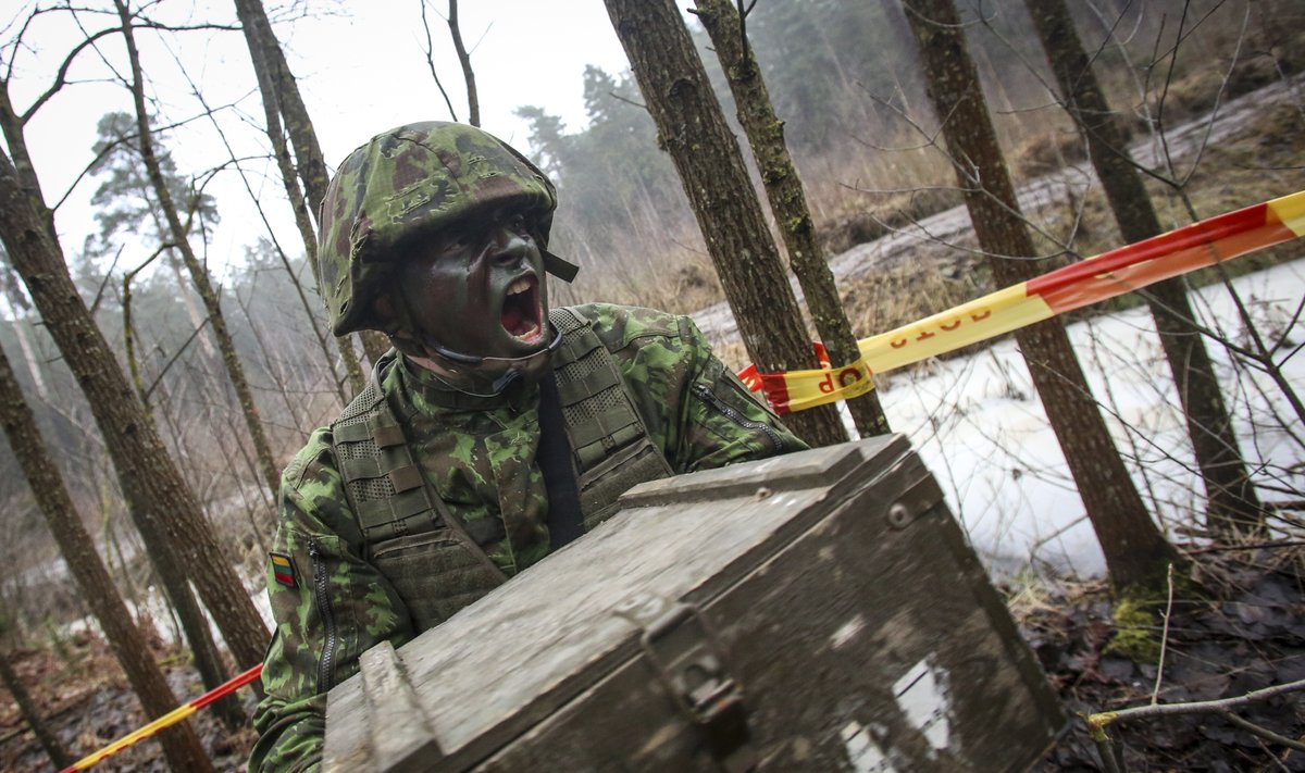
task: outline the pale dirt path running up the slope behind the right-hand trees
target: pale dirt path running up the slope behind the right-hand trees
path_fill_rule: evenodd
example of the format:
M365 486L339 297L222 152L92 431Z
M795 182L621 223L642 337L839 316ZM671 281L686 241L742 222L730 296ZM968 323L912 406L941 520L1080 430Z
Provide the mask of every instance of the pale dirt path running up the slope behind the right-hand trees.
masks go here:
M1263 89L1242 94L1220 106L1211 116L1190 120L1168 129L1163 137L1144 137L1129 148L1139 163L1158 168L1165 157L1174 163L1190 162L1194 153L1210 145L1237 140L1251 124L1255 112L1268 104L1287 99L1300 99L1305 90L1305 76L1296 76L1287 82L1276 81ZM1185 170L1180 168L1182 174ZM1036 213L1048 206L1064 205L1070 192L1081 195L1095 184L1096 175L1091 166L1065 167L1043 175L1019 188L1019 206L1024 213ZM1248 205L1255 204L1248 201ZM970 214L964 206L954 206L924 218L908 227L890 232L874 242L859 244L842 255L830 259L829 265L835 279L842 282L865 277L870 272L887 270L907 260L923 257L921 251L930 249L937 260L963 261L966 252L953 249L950 243L970 232ZM790 279L797 299L803 299L797 279ZM940 309L941 311L941 309ZM715 343L739 341L739 326L735 323L729 304L720 302L694 312L693 320L707 338ZM878 332L878 330L876 330Z

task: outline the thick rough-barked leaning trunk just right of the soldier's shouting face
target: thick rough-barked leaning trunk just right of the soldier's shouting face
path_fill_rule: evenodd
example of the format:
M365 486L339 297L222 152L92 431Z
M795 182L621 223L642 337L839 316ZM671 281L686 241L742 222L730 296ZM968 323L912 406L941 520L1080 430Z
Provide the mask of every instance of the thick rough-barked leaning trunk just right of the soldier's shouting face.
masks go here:
M749 356L761 371L818 367L743 153L673 0L606 0L671 153ZM833 405L784 417L812 445L847 440Z

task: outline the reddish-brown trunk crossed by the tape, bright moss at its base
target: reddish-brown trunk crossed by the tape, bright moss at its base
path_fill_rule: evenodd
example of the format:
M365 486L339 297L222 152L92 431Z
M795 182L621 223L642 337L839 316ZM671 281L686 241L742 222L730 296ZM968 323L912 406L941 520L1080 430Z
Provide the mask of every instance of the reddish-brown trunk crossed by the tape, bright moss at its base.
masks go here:
M947 149L993 277L998 286L1030 279L1036 274L1027 260L1035 255L1034 244L955 5L951 0L908 0L906 12L923 55L929 99L944 116ZM1065 328L1052 319L1017 332L1015 339L1105 554L1112 585L1116 592L1163 588L1165 567L1177 560L1177 551L1142 504Z

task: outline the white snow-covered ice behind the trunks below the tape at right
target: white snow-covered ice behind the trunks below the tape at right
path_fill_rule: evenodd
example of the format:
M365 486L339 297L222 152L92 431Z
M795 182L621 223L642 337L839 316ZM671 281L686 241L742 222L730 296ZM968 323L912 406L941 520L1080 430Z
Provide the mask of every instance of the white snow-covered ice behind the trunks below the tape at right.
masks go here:
M1233 286L1261 333L1284 342L1275 362L1285 360L1287 380L1305 384L1305 356L1287 356L1305 341L1305 321L1296 316L1305 261L1246 274ZM1194 291L1191 302L1207 328L1248 341L1223 286ZM1139 307L1066 330L1147 508L1165 531L1190 522L1203 511L1205 491L1150 312ZM1235 364L1219 342L1206 338L1206 349L1257 483L1298 490L1305 452L1283 428L1292 419L1279 388ZM971 356L886 373L880 389L893 430L910 436L993 575L1030 568L1104 575L1096 537L1013 338Z

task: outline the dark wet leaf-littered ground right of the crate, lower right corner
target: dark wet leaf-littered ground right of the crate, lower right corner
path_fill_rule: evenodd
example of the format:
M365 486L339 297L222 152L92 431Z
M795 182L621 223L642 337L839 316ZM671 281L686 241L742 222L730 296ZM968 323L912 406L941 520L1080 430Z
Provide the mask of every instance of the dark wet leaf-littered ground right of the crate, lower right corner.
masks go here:
M1191 558L1199 594L1174 599L1167 635L1163 625L1150 631L1152 642L1165 644L1163 675L1158 661L1111 652L1117 627L1100 584L1052 588L1032 608L1015 610L1071 716L1070 731L1035 768L1037 773L1109 769L1087 733L1086 714L1146 705L1152 692L1159 704L1210 701L1305 679L1300 547ZM1282 736L1305 739L1305 691L1238 706L1235 714ZM1258 738L1212 712L1120 722L1107 731L1117 769L1131 773L1305 772L1305 752Z

